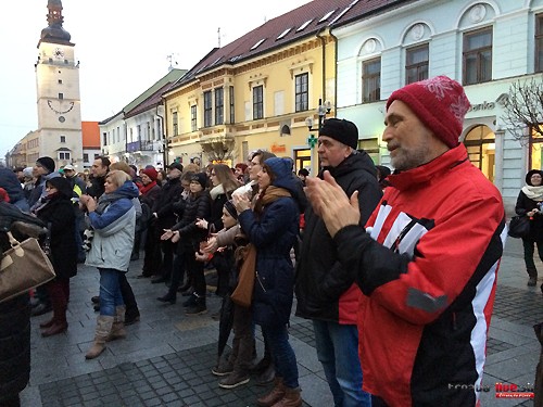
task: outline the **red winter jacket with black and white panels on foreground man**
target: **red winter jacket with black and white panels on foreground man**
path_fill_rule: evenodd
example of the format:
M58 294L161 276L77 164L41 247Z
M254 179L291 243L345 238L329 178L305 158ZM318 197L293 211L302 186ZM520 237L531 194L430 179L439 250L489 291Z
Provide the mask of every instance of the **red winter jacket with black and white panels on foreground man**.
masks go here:
M365 294L364 390L391 407L475 406L477 391L454 386L482 379L506 234L502 198L463 144L389 180L367 233L350 226L334 237Z

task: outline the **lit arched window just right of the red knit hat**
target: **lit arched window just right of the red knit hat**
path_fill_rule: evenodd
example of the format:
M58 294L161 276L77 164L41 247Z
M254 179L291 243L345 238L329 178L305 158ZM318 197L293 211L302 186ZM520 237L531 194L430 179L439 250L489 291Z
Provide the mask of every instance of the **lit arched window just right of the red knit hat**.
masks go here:
M490 127L476 126L466 135L464 144L468 150L471 164L478 167L482 174L494 182L496 137Z

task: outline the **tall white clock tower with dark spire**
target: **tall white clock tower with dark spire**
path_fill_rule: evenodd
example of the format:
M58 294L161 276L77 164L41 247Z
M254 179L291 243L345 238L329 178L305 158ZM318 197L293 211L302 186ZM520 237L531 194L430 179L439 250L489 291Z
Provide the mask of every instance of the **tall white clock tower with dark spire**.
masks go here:
M35 65L39 156L53 158L56 168L72 164L83 170L79 62L62 27L62 1L48 0L47 8L49 25L41 30Z

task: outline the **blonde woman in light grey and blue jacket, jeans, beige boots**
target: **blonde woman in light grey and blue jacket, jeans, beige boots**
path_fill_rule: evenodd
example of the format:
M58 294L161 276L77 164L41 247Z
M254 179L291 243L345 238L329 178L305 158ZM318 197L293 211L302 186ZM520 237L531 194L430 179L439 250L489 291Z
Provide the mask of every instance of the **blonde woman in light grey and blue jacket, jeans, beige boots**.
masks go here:
M87 359L98 357L105 348L105 341L126 336L126 307L119 280L130 264L136 229L134 199L139 191L130 176L121 170L110 171L104 186L105 192L98 202L90 195L80 198L94 231L86 265L100 271L100 315Z

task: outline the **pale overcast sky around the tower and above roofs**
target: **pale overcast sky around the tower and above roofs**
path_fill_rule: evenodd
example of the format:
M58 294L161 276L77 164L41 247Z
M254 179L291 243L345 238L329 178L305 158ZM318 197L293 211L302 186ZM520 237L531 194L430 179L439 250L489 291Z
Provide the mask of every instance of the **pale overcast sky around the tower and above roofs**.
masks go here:
M80 61L81 119L119 112L168 72L310 0L62 0L63 27ZM0 158L38 126L37 44L47 0L10 1L0 23Z

